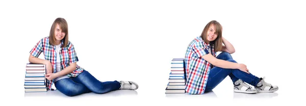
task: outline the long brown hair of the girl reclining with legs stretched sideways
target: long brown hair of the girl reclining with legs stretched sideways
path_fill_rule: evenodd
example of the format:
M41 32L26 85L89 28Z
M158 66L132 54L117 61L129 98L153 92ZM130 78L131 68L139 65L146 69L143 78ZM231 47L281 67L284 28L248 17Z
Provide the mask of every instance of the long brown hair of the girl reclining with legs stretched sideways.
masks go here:
M54 31L55 31L56 24L59 24L59 26L65 32L65 37L62 41L64 42L63 47L67 47L68 45L68 24L64 18L57 18L53 22L51 29L50 29L50 34L49 34L49 44L55 45L56 39L55 39Z

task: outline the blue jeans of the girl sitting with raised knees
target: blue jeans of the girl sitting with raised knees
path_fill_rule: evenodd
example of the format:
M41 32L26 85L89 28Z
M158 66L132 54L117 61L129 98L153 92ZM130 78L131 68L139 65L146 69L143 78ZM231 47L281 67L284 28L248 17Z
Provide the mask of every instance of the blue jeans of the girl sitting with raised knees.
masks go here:
M231 61L231 62L236 62L233 60L232 56L230 53L227 52L222 52L217 56L218 59L226 60L226 61ZM237 62L236 62L237 63ZM257 83L259 83L260 78L252 75L252 74L247 74L245 72L242 72L239 69L226 69L226 68L221 68L221 67L213 67L210 70L208 80L207 80L207 85L205 88L205 92L212 91L219 83L221 83L227 76L230 76L230 78L233 81L233 84L241 79L242 81L256 86Z

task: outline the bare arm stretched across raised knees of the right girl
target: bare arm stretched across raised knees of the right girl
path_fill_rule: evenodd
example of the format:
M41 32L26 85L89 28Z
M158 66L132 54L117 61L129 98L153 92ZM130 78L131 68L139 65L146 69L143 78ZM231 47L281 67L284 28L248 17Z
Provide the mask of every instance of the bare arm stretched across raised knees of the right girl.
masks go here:
M212 54L206 54L206 55L203 55L201 57L203 59L205 59L206 61L208 61L209 63L211 63L211 64L213 64L213 65L215 65L217 67L231 68L231 69L240 69L243 72L248 73L248 69L246 68L246 65L244 65L244 64L217 59Z

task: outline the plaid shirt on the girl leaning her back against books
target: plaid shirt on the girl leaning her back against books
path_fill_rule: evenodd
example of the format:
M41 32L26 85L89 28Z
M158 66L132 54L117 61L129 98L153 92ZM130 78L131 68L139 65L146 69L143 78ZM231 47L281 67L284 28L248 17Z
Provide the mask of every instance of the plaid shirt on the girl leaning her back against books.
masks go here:
M201 37L195 38L188 45L185 56L185 73L187 77L185 90L189 94L204 93L208 75L213 65L204 60L201 56L209 54L210 52L216 57L214 46L206 44Z

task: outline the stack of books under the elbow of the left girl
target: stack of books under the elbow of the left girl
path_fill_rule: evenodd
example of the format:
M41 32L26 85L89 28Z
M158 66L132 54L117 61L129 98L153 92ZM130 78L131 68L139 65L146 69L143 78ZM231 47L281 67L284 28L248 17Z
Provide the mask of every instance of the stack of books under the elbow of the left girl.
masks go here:
M27 63L25 66L24 92L46 92L46 66Z

